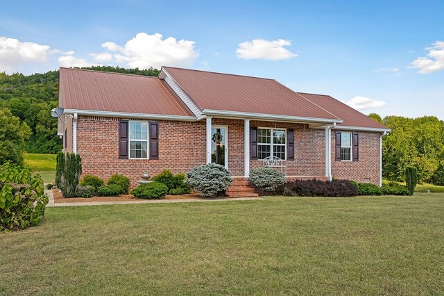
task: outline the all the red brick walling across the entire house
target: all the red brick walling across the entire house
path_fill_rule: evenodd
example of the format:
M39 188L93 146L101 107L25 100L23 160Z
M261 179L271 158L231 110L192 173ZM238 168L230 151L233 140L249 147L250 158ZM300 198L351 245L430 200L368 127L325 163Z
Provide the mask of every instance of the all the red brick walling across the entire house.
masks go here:
M79 116L77 151L83 159L83 174L96 174L108 179L124 174L131 187L144 172L151 176L169 169L173 173L188 172L205 164L205 120L200 122L159 122L159 159L119 159L119 120L122 118ZM125 120L123 118L123 120ZM214 125L228 126L228 169L232 176L244 176L244 120L214 118ZM251 121L251 127L294 129L295 159L287 161L287 176L325 176L325 130L309 129L307 124ZM71 122L67 122L68 151L72 151ZM262 161L250 161L250 170ZM334 161L332 133L332 175L336 179L379 182L379 134L359 133L359 162Z

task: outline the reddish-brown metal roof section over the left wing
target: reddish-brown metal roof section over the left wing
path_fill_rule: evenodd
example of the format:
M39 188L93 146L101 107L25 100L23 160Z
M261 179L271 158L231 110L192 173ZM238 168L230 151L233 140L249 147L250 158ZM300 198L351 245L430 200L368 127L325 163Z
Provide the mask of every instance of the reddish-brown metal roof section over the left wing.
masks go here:
M157 77L60 68L60 106L76 110L194 116Z

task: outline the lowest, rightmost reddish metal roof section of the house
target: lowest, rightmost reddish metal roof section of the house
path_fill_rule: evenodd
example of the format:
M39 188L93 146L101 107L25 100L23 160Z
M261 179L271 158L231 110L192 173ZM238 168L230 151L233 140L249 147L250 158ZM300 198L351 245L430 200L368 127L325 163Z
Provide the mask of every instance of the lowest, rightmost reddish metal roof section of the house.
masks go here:
M375 120L372 120L367 115L360 113L352 107L328 95L306 94L303 92L298 92L298 94L309 99L310 101L313 101L318 106L330 110L330 112L334 113L336 117L341 118L343 123L338 124L338 126L358 126L372 129L388 129L388 127L379 124L379 122L375 122Z

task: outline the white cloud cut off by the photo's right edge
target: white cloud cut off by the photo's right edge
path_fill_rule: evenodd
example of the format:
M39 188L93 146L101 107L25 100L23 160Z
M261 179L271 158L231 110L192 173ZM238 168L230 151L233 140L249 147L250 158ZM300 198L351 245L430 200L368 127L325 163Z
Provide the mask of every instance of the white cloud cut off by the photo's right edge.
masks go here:
M444 41L436 41L433 47L426 47L429 51L426 56L422 56L413 60L410 68L420 69L418 73L429 74L444 69Z

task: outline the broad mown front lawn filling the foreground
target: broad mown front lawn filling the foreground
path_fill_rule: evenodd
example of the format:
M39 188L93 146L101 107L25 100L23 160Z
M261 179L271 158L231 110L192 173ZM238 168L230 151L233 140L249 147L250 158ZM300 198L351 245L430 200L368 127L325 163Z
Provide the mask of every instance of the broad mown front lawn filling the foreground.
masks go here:
M48 208L0 234L0 291L443 295L443 213L442 194Z

